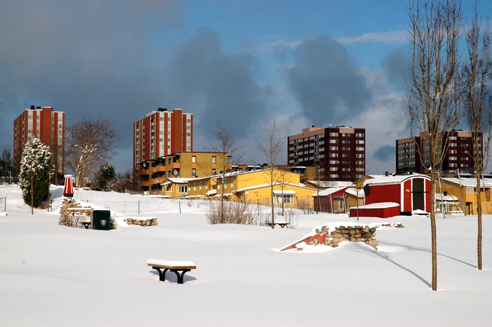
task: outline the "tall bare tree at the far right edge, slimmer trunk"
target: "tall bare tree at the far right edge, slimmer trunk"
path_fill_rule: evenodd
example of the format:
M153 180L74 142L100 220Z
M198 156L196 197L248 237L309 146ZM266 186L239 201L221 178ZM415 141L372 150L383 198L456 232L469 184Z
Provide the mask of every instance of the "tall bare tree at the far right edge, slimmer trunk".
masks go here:
M482 269L482 199L480 196L480 179L490 159L492 140L492 94L488 83L492 80L491 38L489 20L481 31L482 21L478 16L475 2L474 17L465 28L468 50L467 60L462 67L462 86L464 112L471 132L472 158L477 178L477 268ZM485 139L484 139L485 138ZM485 193L484 193L485 195ZM487 197L485 199L487 201Z

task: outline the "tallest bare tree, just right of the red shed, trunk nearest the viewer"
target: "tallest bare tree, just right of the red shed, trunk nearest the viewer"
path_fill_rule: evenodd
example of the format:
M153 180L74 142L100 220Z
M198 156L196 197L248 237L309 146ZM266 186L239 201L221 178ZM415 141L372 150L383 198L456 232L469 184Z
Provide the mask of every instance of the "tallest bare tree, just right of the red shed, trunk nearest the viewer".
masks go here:
M460 0L409 0L409 41L412 62L405 76L405 115L410 134L417 130L424 147L416 144L431 177L432 290L437 290L435 182L449 143L442 139L461 118L458 41Z

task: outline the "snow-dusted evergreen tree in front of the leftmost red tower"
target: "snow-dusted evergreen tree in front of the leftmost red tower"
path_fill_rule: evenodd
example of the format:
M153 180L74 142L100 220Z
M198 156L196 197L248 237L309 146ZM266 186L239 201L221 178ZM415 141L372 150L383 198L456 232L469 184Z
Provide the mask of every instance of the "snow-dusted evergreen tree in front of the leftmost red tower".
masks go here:
M19 185L24 202L31 206L31 213L32 208L48 200L50 180L54 173L50 148L38 138L29 140L22 150Z

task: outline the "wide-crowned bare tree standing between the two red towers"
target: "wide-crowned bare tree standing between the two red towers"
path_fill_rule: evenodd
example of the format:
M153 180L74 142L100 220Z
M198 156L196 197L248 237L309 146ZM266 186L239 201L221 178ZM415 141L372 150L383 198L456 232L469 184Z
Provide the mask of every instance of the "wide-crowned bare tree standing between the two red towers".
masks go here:
M94 172L116 154L116 143L120 140L112 128L112 122L77 120L66 130L66 166L75 172L78 187L86 185Z

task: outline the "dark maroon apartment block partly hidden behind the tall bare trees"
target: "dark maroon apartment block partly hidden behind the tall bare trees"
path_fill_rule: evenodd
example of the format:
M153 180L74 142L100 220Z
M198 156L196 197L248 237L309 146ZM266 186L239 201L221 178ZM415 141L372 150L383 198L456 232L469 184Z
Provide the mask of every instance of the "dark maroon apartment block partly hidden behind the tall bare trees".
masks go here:
M482 135L480 135L480 140ZM416 146L418 145L418 148ZM448 145L440 169L442 173L475 173L475 165L469 153L473 153L472 133L461 129L445 132L442 138L442 146ZM429 173L425 166L429 166L429 160L425 158L425 153L430 151L429 140L423 133L414 138L396 140L396 172L406 173ZM483 155L483 147L480 144L480 151ZM424 153L423 160L420 153ZM423 162L422 162L423 161Z

